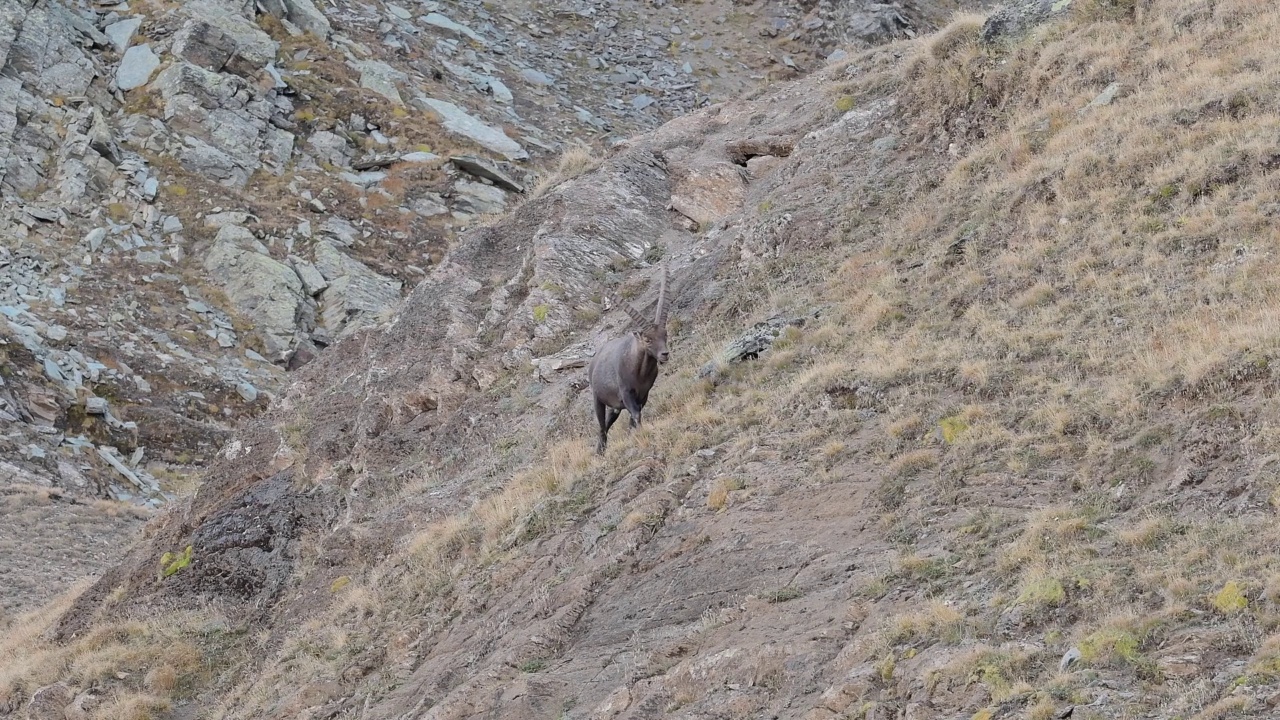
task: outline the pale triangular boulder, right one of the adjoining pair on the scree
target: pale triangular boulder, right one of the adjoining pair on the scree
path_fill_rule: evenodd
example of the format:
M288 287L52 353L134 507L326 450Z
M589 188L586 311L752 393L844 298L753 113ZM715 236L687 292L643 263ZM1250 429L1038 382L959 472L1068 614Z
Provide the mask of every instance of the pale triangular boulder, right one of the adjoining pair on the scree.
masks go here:
M321 319L334 337L369 325L399 305L399 281L375 273L328 242L316 243L315 265L329 282L320 293Z

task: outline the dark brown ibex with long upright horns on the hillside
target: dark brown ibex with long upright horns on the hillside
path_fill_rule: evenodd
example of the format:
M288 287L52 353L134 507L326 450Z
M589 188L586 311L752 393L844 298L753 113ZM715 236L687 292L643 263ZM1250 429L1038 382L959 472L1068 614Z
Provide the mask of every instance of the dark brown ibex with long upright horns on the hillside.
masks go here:
M600 347L586 369L591 380L591 393L595 395L595 419L600 423L600 442L595 452L604 454L609 428L626 409L631 427L641 421L644 404L649 401L649 389L658 379L658 365L669 357L667 352L667 266L662 268L662 284L658 286L658 310L650 323L648 318L630 304L622 307L635 320L637 329L611 340Z

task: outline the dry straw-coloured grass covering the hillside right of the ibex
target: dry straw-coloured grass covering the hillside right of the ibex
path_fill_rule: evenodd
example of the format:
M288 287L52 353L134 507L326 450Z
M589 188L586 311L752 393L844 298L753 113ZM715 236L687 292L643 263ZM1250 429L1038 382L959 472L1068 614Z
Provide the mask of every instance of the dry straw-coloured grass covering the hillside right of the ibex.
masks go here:
M977 44L965 17L911 46L895 81L922 133L911 140L945 128L954 167L893 222L808 259L823 282L755 283L736 306L765 315L820 295L832 305L820 323L767 361L726 368L714 388L692 372L732 332L704 328L709 340L664 370L641 432L614 434L603 460L585 441L556 445L424 523L333 588L329 615L291 638L288 661L242 688L246 707L265 708L283 678L326 676L364 644L392 647L406 625L448 616L462 580L498 577L637 459L672 479L703 447L763 448L806 479L867 470L829 480L869 492L873 514L874 502L891 510L868 525L902 555L858 588L865 606L841 662L874 664L886 689L905 682L910 653L960 646L936 656L950 660L931 682L979 685L980 702L1043 717L1053 703L1042 693L1079 689L1057 673L1060 646L1075 646L1089 673L1143 689L1135 715L1171 716L1164 708L1184 700L1157 652L1204 624L1243 638L1234 652L1249 682L1280 682L1275 486L1253 479L1270 478L1261 470L1280 452L1267 410L1280 360L1280 12L1220 0L1187 19L1180 0L1123 5L1083 3L1001 47ZM1111 82L1125 91L1080 111ZM846 95L859 106L855 86L832 101ZM571 150L534 196L595 163ZM1224 471L1169 489L1178 464ZM735 510L726 477L696 486L710 511ZM627 505L617 529L663 521ZM952 555L924 552L938 548ZM1007 618L1019 624L997 630ZM24 626L9 630L19 644L35 642ZM1005 644L1006 632L1036 642ZM145 675L137 692L182 687ZM703 688L684 691L690 702ZM1248 711L1248 698L1215 692L1179 716Z

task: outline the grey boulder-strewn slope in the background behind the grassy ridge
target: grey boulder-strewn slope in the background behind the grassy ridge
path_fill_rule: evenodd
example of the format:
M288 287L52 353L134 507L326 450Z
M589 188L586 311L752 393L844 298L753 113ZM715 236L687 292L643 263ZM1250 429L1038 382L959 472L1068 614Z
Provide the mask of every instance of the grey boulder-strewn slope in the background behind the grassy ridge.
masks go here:
M951 9L8 0L0 489L32 514L19 532L59 502L189 489L289 370L384 320L566 151ZM91 569L52 555L0 573ZM45 592L6 607L65 583L23 587Z

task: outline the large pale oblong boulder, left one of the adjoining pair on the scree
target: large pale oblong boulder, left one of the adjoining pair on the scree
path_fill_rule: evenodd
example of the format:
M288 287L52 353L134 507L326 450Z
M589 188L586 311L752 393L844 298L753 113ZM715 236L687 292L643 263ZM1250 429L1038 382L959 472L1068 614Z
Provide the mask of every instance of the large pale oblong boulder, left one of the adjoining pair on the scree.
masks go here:
M297 342L302 318L302 281L288 265L259 250L261 243L239 225L218 231L204 268L232 307L253 323L268 357L284 361Z

